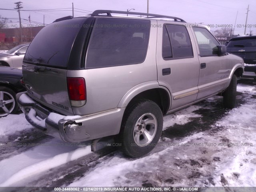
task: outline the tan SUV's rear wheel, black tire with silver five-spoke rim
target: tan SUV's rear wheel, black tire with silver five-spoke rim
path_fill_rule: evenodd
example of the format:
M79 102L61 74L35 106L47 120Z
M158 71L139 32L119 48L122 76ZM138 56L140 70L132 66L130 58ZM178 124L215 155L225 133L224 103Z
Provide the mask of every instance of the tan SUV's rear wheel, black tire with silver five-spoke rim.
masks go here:
M118 134L122 151L134 158L148 154L156 146L162 128L162 111L155 102L150 100L133 102L126 109Z

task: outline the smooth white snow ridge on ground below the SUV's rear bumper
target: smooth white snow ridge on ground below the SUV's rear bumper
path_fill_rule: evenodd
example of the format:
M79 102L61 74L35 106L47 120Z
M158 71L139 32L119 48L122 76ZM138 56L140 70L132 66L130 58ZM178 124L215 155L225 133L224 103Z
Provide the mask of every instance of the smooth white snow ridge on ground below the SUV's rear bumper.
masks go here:
M52 139L32 150L2 160L0 162L0 187L23 185L27 178L38 176L46 170L76 160L89 154L90 150L89 146L79 148ZM12 165L11 169L10 165Z

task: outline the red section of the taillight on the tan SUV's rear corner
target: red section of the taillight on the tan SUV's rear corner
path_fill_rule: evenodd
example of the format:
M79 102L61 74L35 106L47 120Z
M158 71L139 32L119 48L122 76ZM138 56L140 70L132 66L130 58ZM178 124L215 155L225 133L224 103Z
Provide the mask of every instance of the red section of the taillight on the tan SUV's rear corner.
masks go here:
M85 80L82 77L67 77L69 99L74 101L86 100Z

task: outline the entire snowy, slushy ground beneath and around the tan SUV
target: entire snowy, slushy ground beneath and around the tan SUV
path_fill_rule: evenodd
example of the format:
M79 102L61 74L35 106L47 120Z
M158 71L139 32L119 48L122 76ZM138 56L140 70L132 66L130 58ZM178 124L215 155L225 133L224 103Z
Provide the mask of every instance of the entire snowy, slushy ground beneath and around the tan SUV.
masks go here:
M0 118L0 186L256 186L255 124L255 80L240 80L232 110L215 96L165 116L160 142L139 159L110 146L90 152L9 115Z

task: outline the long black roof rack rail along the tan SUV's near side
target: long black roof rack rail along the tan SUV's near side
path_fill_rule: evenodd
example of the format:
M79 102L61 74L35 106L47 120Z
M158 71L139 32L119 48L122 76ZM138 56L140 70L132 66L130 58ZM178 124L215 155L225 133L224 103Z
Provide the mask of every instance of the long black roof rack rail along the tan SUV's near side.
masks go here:
M183 19L178 18L178 17L166 16L166 15L158 15L158 14L151 14L151 13L113 11L113 10L95 10L91 14L91 16L108 16L108 17L112 17L111 13L150 16L148 18L171 18L171 19L174 19L174 21L177 21L177 22L185 22ZM101 15L101 14L107 14L107 15Z

